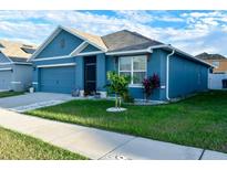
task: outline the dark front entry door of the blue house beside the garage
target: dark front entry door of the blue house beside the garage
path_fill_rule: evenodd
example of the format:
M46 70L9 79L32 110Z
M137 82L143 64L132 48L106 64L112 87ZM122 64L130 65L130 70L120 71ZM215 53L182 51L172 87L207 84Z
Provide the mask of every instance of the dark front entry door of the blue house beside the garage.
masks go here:
M84 57L84 92L92 95L96 91L96 56Z

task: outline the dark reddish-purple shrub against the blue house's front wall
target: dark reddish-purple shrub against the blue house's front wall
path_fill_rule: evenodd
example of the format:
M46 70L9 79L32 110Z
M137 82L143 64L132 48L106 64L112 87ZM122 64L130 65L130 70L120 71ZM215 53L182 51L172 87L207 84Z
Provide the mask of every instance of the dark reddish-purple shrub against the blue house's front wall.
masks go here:
M144 87L144 94L147 102L154 89L159 88L159 76L157 74L153 74L153 76L144 78L142 84Z

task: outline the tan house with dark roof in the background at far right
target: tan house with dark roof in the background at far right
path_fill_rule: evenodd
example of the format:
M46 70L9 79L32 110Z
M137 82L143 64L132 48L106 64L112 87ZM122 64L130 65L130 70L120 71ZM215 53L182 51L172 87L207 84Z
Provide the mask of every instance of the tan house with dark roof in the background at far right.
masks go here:
M214 73L227 73L227 57L220 54L208 54L205 52L196 55L196 57L213 64L215 66L213 70Z

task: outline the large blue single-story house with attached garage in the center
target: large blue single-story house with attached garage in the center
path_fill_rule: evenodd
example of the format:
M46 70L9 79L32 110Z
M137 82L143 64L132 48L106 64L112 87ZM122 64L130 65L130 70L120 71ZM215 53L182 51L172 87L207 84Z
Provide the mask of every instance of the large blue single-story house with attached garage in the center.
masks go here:
M141 82L154 73L161 88L151 99L167 100L207 89L210 64L168 44L127 30L104 36L58 26L35 51L33 86L38 92L101 92L105 94L106 73L130 75L134 98L144 98Z

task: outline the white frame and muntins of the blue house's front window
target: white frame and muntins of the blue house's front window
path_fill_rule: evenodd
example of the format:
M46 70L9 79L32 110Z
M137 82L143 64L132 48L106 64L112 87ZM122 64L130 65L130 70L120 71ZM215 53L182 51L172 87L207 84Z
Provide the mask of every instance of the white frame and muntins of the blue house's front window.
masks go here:
M133 57L134 56L144 56L146 59L146 55L130 55L130 56L120 56L118 57L118 75L121 72L127 72L127 73L131 73L131 83L128 85L128 87L138 87L138 88L142 88L143 85L142 84L134 84L133 83L133 73L134 72L145 72L145 77L147 76L147 59L145 60L145 70L136 70L134 71L133 70ZM121 57L131 57L131 71L120 71L120 60Z

